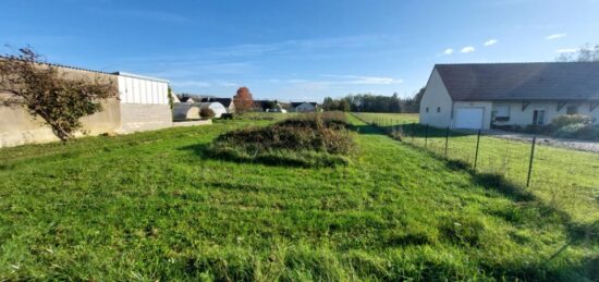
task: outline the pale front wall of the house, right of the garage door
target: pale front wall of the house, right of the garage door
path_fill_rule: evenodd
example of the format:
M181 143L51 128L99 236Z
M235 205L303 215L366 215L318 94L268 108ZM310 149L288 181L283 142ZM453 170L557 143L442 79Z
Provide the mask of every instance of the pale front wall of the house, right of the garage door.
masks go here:
M596 124L599 123L599 107L590 110L590 102L573 102L566 103L558 111L558 101L539 101L530 102L525 110L522 110L522 101L496 101L493 109L500 106L508 106L510 111L510 120L505 122L493 122L496 125L528 125L533 124L533 113L535 110L545 110L545 124L551 123L551 120L558 115L566 114L567 107L571 105L578 106L578 114L590 115L596 119Z

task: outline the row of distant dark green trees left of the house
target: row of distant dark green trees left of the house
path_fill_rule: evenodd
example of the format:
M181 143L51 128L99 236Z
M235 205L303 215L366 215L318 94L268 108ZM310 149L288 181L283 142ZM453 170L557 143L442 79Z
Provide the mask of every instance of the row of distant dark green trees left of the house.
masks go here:
M327 97L322 108L326 111L418 112L424 91L425 88L421 88L414 97L403 99L396 93L392 96L357 94L341 99Z

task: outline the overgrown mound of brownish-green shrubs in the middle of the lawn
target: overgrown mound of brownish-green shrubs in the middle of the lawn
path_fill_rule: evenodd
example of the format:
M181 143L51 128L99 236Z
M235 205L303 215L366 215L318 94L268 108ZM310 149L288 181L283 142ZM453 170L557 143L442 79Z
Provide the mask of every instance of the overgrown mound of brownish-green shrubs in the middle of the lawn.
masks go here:
M229 132L209 147L213 156L298 167L346 164L353 140L342 112L300 114L266 127Z

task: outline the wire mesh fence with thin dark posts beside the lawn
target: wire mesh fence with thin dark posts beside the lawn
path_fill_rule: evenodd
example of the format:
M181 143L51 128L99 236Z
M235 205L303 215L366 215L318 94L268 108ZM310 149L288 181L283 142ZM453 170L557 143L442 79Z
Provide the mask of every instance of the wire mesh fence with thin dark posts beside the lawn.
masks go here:
M599 154L557 148L536 137L509 139L491 132L438 128L384 114L354 117L476 173L501 175L546 203L572 211L577 220L599 219Z

